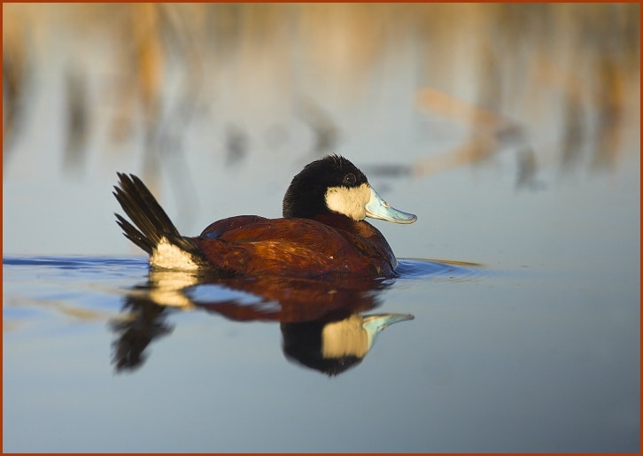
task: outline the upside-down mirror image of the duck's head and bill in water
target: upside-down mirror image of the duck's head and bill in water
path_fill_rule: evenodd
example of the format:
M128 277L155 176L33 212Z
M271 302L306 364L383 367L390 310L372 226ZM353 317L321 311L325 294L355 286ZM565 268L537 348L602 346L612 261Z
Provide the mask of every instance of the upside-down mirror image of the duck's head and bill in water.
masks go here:
M338 375L364 359L384 328L413 319L403 313L353 313L341 321L282 323L283 353L306 367Z

